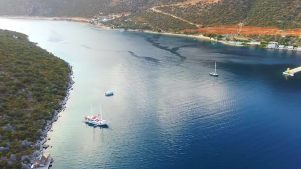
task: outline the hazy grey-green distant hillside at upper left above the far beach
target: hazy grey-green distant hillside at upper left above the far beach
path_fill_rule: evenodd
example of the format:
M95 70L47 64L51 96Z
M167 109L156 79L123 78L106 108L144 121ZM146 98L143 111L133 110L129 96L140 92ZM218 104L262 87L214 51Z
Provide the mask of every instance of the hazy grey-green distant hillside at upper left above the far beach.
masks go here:
M0 0L0 15L93 17L178 1L182 0Z

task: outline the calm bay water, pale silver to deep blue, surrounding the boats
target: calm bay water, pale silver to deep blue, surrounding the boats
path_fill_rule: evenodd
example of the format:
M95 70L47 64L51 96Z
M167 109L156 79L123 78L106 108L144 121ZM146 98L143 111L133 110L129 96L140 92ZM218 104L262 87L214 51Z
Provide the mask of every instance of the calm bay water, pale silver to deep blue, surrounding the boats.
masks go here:
M54 169L299 168L301 52L0 19L74 66ZM217 60L219 78L210 77ZM104 92L114 91L112 97ZM100 102L108 128L82 123Z

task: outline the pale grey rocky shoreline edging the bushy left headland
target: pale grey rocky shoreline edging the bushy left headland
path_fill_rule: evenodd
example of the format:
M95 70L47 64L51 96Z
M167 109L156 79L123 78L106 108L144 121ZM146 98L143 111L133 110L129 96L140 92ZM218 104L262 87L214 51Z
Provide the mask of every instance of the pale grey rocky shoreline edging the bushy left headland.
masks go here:
M73 67L71 65L69 65L70 68L70 73L68 75L68 83L67 85L67 90L66 90L66 96L63 100L58 101L58 104L60 105L60 108L58 110L54 110L54 112L52 112L53 117L51 120L47 120L45 121L45 127L43 129L40 129L40 139L36 140L34 145L31 145L32 147L37 147L37 150L35 150L30 156L23 156L21 158L21 164L24 167L24 169L30 169L31 165L34 163L36 157L38 157L39 155L41 155L43 153L43 150L47 149L50 145L46 144L47 140L50 140L50 137L47 138L47 134L49 131L52 131L51 127L52 127L52 123L56 122L58 120L58 118L60 117L59 113L63 112L66 109L66 103L68 101L68 99L70 98L70 90L73 90ZM27 142L26 140L24 140L22 142L22 145L30 145L31 142ZM52 147L52 146L51 146ZM30 163L25 164L23 163L24 161L29 161Z

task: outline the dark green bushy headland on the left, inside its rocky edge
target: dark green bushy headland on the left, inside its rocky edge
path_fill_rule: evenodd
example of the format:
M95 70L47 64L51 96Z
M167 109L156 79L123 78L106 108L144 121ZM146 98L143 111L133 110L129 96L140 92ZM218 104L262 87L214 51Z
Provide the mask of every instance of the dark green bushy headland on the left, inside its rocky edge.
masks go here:
M28 166L46 124L61 108L70 71L26 35L0 30L0 169Z

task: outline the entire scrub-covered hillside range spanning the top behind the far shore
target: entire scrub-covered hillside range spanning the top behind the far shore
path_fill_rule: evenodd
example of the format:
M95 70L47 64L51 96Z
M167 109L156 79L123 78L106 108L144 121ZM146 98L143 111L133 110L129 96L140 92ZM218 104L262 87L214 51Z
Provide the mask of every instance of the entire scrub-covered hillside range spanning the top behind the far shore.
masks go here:
M93 17L128 12L145 17L150 9L174 16L165 17L163 29L169 29L169 22L177 26L176 17L203 27L244 23L301 28L300 0L0 0L0 15Z

